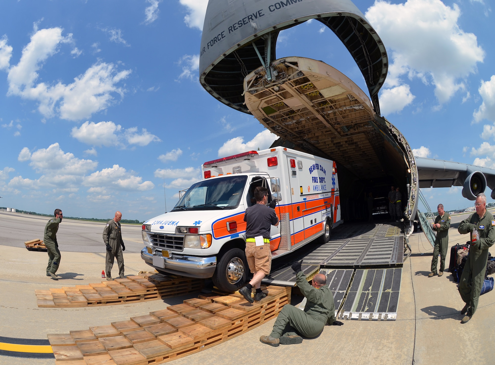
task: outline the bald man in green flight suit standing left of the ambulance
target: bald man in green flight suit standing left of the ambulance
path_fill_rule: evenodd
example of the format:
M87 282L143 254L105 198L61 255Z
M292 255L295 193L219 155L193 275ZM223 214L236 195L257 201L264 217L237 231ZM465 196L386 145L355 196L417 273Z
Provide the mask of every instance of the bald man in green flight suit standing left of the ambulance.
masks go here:
M115 212L115 217L109 220L103 229L103 242L105 242L106 246L105 273L107 280L113 280L111 271L115 258L117 258L117 265L119 266L119 277L124 277L124 256L122 251L125 251L125 246L120 230L119 222L121 219L122 213Z

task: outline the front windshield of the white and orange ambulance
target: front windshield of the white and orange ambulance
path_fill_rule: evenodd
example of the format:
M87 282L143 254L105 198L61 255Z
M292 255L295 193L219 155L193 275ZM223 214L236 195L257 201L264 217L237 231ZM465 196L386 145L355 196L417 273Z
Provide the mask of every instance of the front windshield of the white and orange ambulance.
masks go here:
M187 190L172 212L236 208L246 181L247 176L228 176L197 182Z

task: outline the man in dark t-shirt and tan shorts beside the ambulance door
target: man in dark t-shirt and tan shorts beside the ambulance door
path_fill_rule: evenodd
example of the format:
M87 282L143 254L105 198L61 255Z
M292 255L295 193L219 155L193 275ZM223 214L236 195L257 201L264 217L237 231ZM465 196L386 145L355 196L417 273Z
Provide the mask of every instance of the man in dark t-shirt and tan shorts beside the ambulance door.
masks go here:
M261 300L266 294L261 291L261 280L270 274L272 253L270 251L270 228L277 227L279 219L275 210L266 206L268 190L257 186L254 189L256 204L246 209L244 221L246 225L246 259L249 270L254 274L246 286L239 289L244 298L250 303ZM251 297L252 287L256 288L254 299Z

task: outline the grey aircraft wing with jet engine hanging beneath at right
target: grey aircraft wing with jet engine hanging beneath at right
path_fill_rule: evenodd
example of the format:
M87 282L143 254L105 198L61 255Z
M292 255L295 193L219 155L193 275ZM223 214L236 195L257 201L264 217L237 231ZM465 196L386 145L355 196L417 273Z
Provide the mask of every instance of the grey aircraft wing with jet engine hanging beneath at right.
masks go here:
M418 170L419 187L463 186L462 196L475 200L488 186L495 199L495 170L460 162L414 157Z

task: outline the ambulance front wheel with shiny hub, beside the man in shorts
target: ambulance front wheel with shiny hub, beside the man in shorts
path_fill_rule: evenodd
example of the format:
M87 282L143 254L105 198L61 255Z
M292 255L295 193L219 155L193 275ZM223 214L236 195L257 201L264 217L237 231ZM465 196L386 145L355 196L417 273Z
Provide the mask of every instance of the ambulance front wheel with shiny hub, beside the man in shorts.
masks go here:
M244 251L233 248L222 256L211 279L218 289L235 292L246 282L248 270Z

